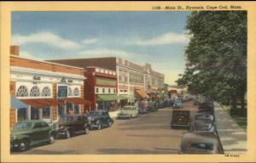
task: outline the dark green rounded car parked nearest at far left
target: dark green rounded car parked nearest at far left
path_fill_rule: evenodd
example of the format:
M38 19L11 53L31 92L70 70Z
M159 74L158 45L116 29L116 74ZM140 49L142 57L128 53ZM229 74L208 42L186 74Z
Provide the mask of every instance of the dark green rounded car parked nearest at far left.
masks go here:
M40 143L55 143L57 132L44 121L21 121L11 131L11 150L25 151Z

